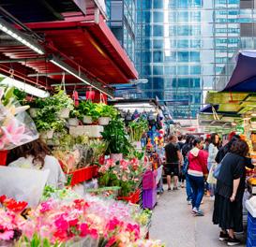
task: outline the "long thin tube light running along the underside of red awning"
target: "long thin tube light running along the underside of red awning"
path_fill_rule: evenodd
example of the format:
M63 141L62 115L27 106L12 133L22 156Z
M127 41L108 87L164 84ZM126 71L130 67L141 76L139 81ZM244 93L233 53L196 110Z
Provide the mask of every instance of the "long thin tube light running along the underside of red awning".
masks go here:
M101 92L102 94L107 94L108 96L110 96L111 98L113 98L113 94L111 93L110 90L108 90L107 88L106 88L106 89L104 89L104 88L100 89L100 86L96 86L96 85L95 85L97 82L91 83L91 82L85 80L85 79L83 78L83 75L79 75L75 69L73 69L73 68L70 67L69 65L65 64L65 63L62 62L61 60L59 60L59 59L57 59L57 58L55 58L55 57L52 56L52 57L50 58L50 62L53 63L53 65L56 65L56 66L62 68L63 70L65 70L66 72L68 72L68 74L72 75L73 77L77 78L78 80L81 80L81 81L83 81L85 84L90 85L91 87L97 89L97 90L98 90L99 92Z

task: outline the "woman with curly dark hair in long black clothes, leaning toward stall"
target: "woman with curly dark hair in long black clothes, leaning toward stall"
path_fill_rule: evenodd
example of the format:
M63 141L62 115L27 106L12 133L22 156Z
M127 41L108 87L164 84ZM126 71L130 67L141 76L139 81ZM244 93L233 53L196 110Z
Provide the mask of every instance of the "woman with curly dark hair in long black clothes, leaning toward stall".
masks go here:
M215 194L213 223L221 228L219 240L240 244L233 232L243 231L242 200L245 191L248 143L237 139L221 161Z

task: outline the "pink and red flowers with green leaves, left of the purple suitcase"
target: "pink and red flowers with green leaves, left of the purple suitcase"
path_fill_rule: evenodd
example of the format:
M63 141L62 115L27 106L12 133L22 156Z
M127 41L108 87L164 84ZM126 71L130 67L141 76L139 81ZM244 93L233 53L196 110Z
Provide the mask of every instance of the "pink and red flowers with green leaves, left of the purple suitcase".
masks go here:
M139 185L143 169L143 163L136 158L116 163L108 159L98 169L98 183L100 186L120 186L120 196L128 196Z

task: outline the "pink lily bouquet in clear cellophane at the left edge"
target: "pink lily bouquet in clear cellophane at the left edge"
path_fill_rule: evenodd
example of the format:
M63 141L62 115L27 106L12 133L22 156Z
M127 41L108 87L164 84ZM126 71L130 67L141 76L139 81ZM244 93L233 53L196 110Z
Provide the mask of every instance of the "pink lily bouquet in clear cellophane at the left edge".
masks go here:
M13 97L4 105L5 89L0 88L0 150L11 150L38 138L33 120Z

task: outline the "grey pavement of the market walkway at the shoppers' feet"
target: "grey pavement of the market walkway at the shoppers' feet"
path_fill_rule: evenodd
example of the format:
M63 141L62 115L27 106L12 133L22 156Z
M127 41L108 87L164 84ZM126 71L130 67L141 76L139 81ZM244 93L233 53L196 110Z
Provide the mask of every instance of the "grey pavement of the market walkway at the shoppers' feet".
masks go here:
M202 210L205 215L195 217L190 213L185 189L172 192L165 190L163 195L158 196L150 238L162 240L167 247L227 246L225 242L218 240L218 226L212 224L213 204L209 197L204 196ZM237 238L241 239L239 235Z

